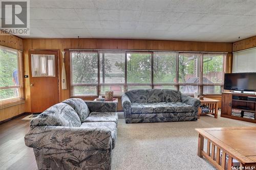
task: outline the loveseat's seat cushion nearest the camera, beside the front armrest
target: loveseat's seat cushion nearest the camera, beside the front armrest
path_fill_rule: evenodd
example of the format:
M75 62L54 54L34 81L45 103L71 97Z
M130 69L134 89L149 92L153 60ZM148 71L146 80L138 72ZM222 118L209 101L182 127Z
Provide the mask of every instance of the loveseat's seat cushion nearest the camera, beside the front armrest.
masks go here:
M82 123L80 128L92 128L92 129L104 129L111 131L112 138L112 149L115 148L116 138L117 138L117 128L114 122L87 122Z

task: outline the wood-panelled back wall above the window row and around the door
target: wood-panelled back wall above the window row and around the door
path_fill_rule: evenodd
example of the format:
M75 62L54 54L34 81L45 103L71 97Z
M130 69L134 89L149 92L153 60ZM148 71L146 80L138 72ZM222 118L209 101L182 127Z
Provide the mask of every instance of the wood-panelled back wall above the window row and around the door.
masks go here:
M67 50L67 49L92 49L92 50L166 50L166 51L194 51L194 52L232 52L232 43L220 42L194 42L194 41L164 41L164 40L133 40L133 39L77 39L77 38L52 38L52 39L23 39L25 75L29 75L28 51L29 50ZM67 72L67 90L61 90L61 101L70 98L70 65L69 54L65 55ZM60 56L59 68L62 68ZM61 70L60 70L61 72ZM61 76L61 75L60 75ZM60 79L61 80L61 79ZM26 112L30 112L30 82L25 79ZM86 100L93 100L87 99ZM219 98L220 99L220 96ZM121 100L118 110L122 110Z

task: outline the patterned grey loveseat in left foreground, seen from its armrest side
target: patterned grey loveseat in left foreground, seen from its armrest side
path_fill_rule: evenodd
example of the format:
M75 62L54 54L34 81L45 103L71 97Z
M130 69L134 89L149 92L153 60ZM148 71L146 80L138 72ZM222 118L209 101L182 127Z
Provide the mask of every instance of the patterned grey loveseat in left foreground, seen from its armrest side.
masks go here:
M114 102L68 99L31 120L25 144L38 169L111 169L117 122Z

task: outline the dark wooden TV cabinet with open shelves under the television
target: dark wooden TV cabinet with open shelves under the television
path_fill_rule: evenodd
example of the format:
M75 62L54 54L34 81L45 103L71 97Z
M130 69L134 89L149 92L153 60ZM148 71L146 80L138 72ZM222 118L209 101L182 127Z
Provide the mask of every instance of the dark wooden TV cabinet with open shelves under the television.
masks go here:
M246 122L256 123L256 101L248 101L246 100L247 97L256 98L256 95L246 93L222 92L221 117L227 117L237 120L243 120ZM241 116L232 115L232 109L241 111ZM249 112L250 114L253 114L254 118L252 119L243 117L244 112Z

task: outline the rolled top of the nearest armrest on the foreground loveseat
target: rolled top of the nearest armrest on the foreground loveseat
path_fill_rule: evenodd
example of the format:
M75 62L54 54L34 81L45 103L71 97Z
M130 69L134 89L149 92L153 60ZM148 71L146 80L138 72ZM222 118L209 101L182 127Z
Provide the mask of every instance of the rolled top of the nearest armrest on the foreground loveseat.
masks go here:
M97 128L32 126L25 135L25 144L36 149L109 150L111 131Z

